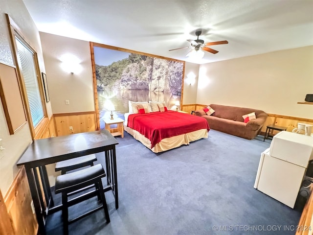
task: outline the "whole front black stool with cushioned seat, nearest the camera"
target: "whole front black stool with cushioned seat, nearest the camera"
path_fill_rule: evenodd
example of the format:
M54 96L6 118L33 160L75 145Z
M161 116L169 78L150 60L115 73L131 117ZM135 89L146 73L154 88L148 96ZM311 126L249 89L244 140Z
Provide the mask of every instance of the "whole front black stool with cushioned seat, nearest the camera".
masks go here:
M95 211L100 210L101 208L104 209L104 213L107 219L107 223L110 223L109 211L107 207L106 197L104 195L103 185L101 178L105 177L106 173L103 169L102 164L96 164L90 166L88 168L77 170L72 173L67 173L64 175L59 175L55 181L55 193L62 193L62 217L63 217L63 231L64 234L68 234L68 224L75 222ZM89 199L90 196L84 197L78 196L70 201L67 200L68 193L79 190L81 188L85 188L90 185L96 185L96 190L100 192L102 205L98 208L95 208L85 214L82 214L75 219L68 221L68 207L78 202L82 202L85 199ZM93 195L93 194L90 194Z

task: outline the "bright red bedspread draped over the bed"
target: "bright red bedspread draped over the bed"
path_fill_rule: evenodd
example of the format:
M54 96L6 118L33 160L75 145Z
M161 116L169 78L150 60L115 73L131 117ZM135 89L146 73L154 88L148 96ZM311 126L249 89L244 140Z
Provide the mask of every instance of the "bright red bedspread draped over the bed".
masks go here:
M151 148L164 138L201 129L210 130L205 118L175 111L131 114L127 126L151 141Z

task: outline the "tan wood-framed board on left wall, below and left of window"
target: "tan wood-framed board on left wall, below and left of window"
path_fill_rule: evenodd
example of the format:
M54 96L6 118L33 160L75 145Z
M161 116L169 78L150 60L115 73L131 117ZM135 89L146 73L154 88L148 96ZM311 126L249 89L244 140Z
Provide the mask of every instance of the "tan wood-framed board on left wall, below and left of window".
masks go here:
M0 97L10 135L27 122L16 67L0 62Z

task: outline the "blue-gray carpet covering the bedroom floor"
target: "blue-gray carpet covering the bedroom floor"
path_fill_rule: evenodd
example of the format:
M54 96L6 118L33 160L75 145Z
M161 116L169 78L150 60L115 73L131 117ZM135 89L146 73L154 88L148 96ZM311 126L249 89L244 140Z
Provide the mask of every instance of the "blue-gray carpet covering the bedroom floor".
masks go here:
M302 208L291 209L253 188L261 152L270 140L258 136L249 141L210 130L208 139L155 154L126 132L116 139L119 209L112 192L106 192L111 223L106 224L103 210L97 211L70 224L69 234L295 233L292 226ZM96 199L89 201L70 213ZM62 234L61 212L48 216L46 230Z

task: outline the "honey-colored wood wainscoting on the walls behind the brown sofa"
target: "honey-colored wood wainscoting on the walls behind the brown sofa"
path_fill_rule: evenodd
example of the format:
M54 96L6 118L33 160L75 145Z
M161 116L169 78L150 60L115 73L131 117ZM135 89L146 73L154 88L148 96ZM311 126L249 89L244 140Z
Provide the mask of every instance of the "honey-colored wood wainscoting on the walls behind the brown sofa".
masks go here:
M193 110L200 110L206 106L207 105L204 105L204 104L184 104L182 106L182 110L185 112L191 113L191 111ZM277 126L286 126L287 131L292 131L294 128L297 128L298 122L313 125L313 119L309 119L309 118L297 118L297 117L284 116L284 115L278 115L278 114L268 114L268 118L266 119L266 122L264 123L261 129L261 134L262 135L265 134L266 126L269 124L275 124ZM272 134L275 135L277 133L278 131L274 131Z

